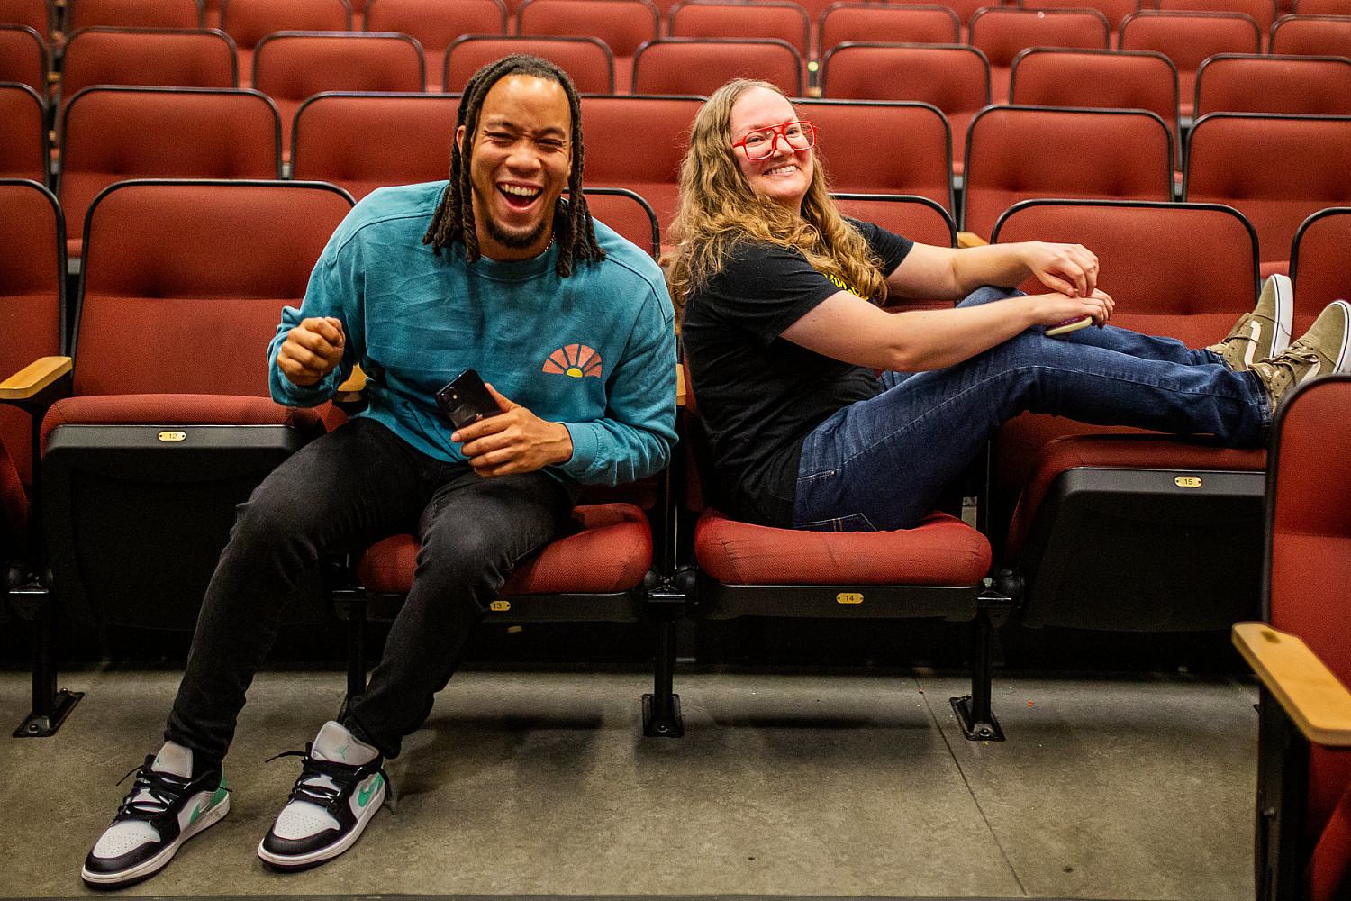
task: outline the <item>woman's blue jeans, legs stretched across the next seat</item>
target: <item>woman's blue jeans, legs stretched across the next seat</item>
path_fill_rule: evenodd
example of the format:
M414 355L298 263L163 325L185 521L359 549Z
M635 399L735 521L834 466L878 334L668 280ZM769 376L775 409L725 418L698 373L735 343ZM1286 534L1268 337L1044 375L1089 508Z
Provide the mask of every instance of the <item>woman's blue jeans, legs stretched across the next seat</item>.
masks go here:
M981 288L959 305L1016 292ZM1124 328L1047 338L1029 328L955 366L885 373L877 397L836 411L802 443L793 527L915 527L1001 424L1024 411L1096 426L1266 440L1270 401L1252 373L1208 350Z

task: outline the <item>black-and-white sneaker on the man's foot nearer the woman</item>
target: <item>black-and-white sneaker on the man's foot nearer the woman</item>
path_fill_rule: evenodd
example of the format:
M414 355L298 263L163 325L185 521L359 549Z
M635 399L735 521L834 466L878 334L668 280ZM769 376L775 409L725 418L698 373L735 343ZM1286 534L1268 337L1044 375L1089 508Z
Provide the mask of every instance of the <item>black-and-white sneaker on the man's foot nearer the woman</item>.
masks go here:
M385 801L384 758L338 723L326 723L304 751L277 756L304 762L286 806L258 844L258 856L278 870L303 870L355 844Z

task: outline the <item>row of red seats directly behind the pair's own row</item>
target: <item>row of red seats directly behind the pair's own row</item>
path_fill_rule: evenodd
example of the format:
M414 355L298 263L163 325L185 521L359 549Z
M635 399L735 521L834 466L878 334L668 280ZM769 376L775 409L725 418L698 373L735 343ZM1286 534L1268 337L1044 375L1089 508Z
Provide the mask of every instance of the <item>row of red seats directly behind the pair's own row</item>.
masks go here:
M290 128L290 174L342 185L361 197L380 185L444 177L454 130L451 95L322 95ZM588 180L628 188L676 213L685 135L694 97L584 97ZM3 128L14 155L0 174L43 180L41 111L24 88L0 89L14 111ZM836 190L919 195L989 238L998 215L1032 197L1169 201L1174 139L1161 116L1139 109L988 107L965 135L961 204L952 190L952 131L927 104L804 100ZM66 108L54 186L82 219L93 197L128 177L274 178L281 120L250 91L93 88ZM631 135L644 135L631 153ZM866 142L858 135L870 135ZM1028 153L1035 147L1035 153ZM882 149L882 150L880 150ZM967 157L966 154L970 154ZM1188 138L1183 200L1229 204L1260 238L1263 274L1283 272L1290 242L1309 215L1351 205L1351 118L1213 113ZM78 254L78 240L72 243Z

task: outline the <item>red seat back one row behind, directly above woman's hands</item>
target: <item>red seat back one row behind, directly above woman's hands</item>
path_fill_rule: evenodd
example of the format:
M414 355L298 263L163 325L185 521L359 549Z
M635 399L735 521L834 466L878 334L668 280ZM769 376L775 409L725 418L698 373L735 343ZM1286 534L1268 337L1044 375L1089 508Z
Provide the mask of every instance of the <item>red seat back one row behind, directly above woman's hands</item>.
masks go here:
M990 107L975 116L962 228L985 238L1015 203L1043 197L1171 200L1167 126L1143 109Z

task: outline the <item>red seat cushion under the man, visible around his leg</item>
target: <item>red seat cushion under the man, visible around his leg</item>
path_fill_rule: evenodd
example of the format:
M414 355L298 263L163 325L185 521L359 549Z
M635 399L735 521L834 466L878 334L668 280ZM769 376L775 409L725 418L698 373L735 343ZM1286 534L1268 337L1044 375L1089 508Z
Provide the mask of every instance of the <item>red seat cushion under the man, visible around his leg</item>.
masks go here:
M632 504L589 504L573 511L580 531L549 544L516 570L503 594L600 594L642 584L653 565L653 532ZM357 563L357 577L372 592L407 594L417 569L417 539L394 535Z

